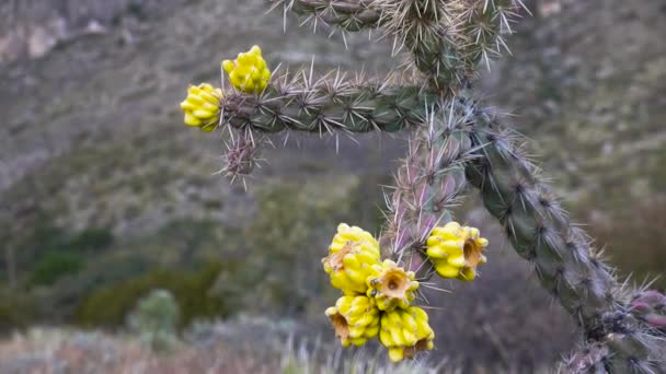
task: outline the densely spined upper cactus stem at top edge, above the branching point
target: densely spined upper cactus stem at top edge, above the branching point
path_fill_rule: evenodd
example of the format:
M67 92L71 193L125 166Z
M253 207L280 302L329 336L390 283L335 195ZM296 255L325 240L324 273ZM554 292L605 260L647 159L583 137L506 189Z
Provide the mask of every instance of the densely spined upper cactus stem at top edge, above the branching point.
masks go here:
M378 0L387 34L409 50L414 66L438 91L456 92L506 44L520 0Z

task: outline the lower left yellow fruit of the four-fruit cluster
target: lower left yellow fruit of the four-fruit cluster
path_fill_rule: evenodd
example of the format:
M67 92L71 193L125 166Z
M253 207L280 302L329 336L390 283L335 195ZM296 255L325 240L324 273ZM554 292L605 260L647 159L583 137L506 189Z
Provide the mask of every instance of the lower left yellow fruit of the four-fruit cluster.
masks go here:
M379 334L379 309L367 296L342 296L325 312L343 347L363 346Z

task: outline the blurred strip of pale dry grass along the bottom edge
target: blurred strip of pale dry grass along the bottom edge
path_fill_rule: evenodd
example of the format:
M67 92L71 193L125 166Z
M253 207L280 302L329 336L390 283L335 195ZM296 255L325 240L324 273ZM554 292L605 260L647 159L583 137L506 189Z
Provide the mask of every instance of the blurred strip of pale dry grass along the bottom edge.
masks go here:
M266 322L208 325L208 339L154 353L128 336L68 329L34 328L0 343L0 372L41 373L468 373L449 360L433 364L422 358L391 364L383 352L341 350L333 342L296 342L289 335L260 337ZM250 341L234 340L246 334ZM285 331L284 331L285 332ZM213 336L213 338L211 338ZM540 367L535 373L546 373ZM474 373L520 373L516 369L483 367Z

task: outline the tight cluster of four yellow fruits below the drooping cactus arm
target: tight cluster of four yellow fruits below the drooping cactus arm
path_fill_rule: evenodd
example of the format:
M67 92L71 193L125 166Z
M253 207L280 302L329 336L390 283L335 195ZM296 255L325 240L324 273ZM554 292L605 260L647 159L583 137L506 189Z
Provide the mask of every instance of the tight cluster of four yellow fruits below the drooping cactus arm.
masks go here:
M322 265L344 294L325 311L343 347L361 346L379 335L392 361L433 349L427 314L410 305L418 289L414 272L390 259L381 261L370 233L341 223Z

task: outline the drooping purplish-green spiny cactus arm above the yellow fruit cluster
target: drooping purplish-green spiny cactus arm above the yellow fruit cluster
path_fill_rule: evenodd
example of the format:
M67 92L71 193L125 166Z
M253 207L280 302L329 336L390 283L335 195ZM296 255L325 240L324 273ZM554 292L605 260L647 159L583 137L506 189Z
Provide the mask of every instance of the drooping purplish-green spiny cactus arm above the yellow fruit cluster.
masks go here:
M464 155L469 152L468 121L463 105L438 101L426 120L411 133L407 156L394 179L395 189L387 198L390 219L382 242L394 257L412 258L420 278L429 278L432 267L421 258L430 231L452 220L449 208L467 185Z

